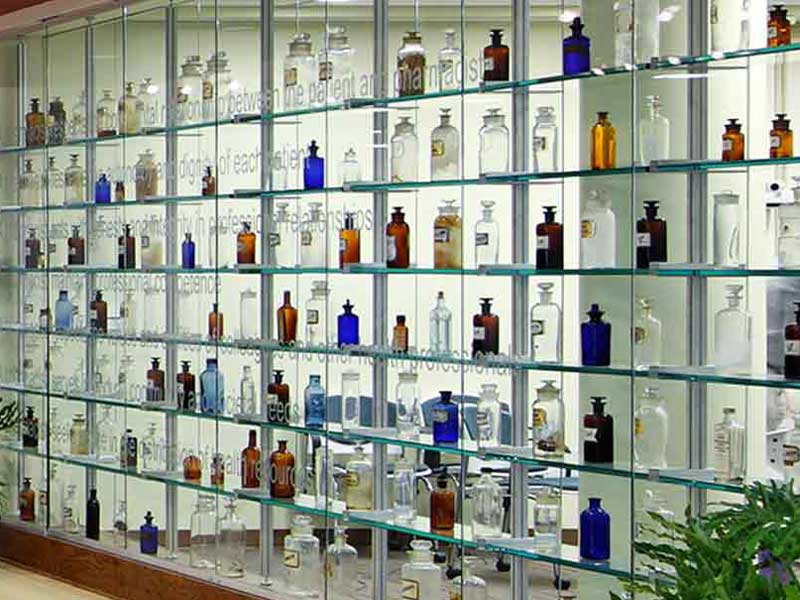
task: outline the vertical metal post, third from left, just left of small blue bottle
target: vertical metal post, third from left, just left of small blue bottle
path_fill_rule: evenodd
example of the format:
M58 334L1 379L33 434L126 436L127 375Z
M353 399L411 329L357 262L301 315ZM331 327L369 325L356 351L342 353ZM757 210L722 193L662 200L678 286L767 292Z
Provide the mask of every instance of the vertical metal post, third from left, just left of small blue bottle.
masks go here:
M178 193L177 180L177 157L178 157L178 136L175 132L175 111L170 106L170 100L175 92L175 78L177 72L177 32L175 30L175 7L170 1L165 8L166 27L164 47L166 50L166 72L164 74L165 95L167 103L166 115L166 189L167 197L175 196ZM173 202L167 203L166 208L166 239L167 239L167 264L177 264L177 250L175 240L178 230L178 206ZM177 331L177 275L168 273L166 278L166 330L167 335L171 336ZM168 402L176 397L175 394L175 373L177 373L178 349L175 344L168 344L166 347L166 361L164 371L167 373L164 392ZM174 471L178 468L178 417L176 414L168 412L165 417L166 422L166 445L167 445L167 470ZM178 490L173 485L168 485L166 489L166 515L167 515L167 551L170 558L175 558L178 552Z

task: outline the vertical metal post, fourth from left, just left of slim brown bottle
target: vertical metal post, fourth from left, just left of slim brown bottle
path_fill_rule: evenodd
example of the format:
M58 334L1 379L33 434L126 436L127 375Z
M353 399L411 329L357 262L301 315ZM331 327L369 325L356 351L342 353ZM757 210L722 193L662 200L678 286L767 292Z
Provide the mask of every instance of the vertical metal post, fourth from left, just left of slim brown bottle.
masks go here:
M272 119L266 119L266 114L273 112L272 89L274 87L273 66L275 62L274 45L272 43L272 30L274 22L274 2L271 0L261 0L261 189L272 189L272 151L274 147L274 123ZM261 264L272 265L273 257L270 252L269 232L272 230L272 201L265 196L261 197ZM272 314L273 314L273 275L271 273L261 274L261 339L272 339ZM272 377L272 351L261 350L261 388L260 393L266 393L267 387ZM299 393L299 392L298 392ZM266 417L262 413L262 417ZM263 456L267 456L272 450L273 434L269 427L261 428L261 451ZM269 484L267 467L262 469L262 487L266 489ZM261 505L260 519L260 550L261 550L261 583L271 585L272 580L272 547L274 536L272 532L272 506Z

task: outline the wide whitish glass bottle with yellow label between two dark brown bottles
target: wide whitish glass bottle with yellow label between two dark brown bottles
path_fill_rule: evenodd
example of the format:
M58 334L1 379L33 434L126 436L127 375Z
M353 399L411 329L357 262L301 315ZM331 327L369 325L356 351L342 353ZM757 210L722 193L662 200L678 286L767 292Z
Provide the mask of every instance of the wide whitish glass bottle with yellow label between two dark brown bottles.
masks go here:
M606 190L589 190L581 211L581 267L617 265L617 218Z

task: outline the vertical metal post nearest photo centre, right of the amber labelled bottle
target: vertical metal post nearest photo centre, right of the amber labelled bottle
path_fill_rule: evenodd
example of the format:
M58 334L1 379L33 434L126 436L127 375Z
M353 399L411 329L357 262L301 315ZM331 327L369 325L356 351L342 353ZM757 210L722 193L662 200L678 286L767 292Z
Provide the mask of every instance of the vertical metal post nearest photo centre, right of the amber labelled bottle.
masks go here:
M373 78L374 96L385 98L389 95L389 0L375 0L373 6ZM388 181L388 114L386 111L375 111L372 121L374 179ZM384 224L388 221L388 194L385 191L375 192L372 197L373 223L375 235L373 239L373 257L377 263L386 261L386 243L382 235ZM374 319L372 340L376 347L386 346L387 314L388 314L389 280L385 274L377 274L372 279L372 302ZM386 425L387 413L387 364L383 358L375 358L372 363L372 425ZM383 510L387 501L387 448L385 444L373 444L373 506L375 510ZM388 535L383 529L372 529L372 597L383 600L386 597L386 566L388 563Z

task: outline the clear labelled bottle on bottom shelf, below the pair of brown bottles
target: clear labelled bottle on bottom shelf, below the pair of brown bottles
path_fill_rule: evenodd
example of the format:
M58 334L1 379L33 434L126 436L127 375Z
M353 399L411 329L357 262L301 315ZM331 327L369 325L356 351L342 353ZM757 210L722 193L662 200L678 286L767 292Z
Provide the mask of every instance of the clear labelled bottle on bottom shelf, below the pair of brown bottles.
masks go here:
M290 592L305 596L319 594L322 564L311 517L294 516L291 533L283 542L283 567Z

